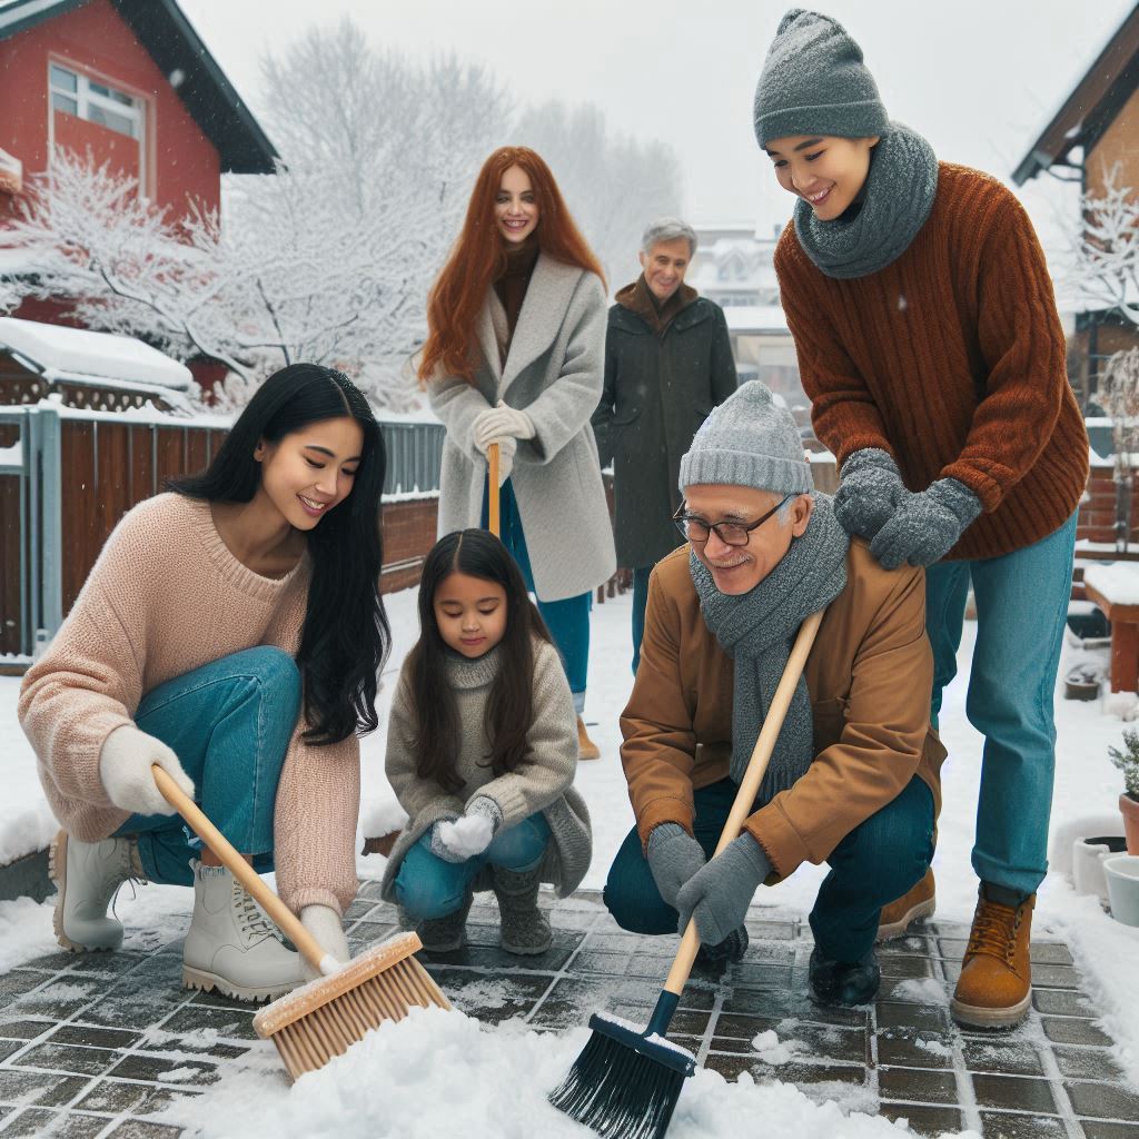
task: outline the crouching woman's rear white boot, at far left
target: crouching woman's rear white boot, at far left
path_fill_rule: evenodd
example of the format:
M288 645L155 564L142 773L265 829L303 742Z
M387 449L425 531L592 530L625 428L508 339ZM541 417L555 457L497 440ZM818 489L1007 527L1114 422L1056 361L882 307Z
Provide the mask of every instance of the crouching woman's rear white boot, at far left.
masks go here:
M115 892L131 879L146 882L133 838L83 843L60 830L48 851L51 880L59 887L54 924L64 949L118 949L123 924L107 917Z

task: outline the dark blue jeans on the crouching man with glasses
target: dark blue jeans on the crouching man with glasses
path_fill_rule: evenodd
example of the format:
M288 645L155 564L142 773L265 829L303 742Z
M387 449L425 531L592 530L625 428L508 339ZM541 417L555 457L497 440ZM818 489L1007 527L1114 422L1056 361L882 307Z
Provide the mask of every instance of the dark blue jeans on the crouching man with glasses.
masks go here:
M721 779L695 792L693 833L711 858L720 841L737 785ZM823 956L857 961L874 944L883 906L920 882L933 858L933 792L915 776L899 795L859 823L831 852L811 929ZM603 895L622 929L675 933L680 920L656 888L634 827L609 867Z

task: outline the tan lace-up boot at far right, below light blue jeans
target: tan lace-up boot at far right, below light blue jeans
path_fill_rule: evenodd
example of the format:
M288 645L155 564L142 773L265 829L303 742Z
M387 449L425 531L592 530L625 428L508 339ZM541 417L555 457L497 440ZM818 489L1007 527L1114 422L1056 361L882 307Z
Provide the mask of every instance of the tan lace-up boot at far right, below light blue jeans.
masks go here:
M1032 908L1036 895L1019 906L985 896L984 884L973 915L961 976L950 1003L953 1019L981 1029L1019 1024L1032 1001Z

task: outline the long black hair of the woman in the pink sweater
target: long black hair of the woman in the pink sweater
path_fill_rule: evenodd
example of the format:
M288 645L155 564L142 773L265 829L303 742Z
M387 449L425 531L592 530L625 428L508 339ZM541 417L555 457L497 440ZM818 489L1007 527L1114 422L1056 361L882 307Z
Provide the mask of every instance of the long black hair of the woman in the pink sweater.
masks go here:
M289 364L257 388L204 472L166 483L188 498L248 502L261 484L261 464L253 458L261 440L277 443L310 424L345 416L363 432L352 492L309 533L312 580L296 663L309 721L304 738L311 744L336 744L376 728L376 686L392 642L379 596L386 458L367 399L331 368Z

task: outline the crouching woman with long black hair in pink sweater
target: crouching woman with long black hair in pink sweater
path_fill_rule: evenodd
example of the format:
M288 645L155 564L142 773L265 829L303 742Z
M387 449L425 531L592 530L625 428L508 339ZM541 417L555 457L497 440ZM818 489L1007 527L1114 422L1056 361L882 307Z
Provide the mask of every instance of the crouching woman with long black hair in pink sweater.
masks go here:
M295 952L151 776L157 763L346 959L357 892L358 731L391 644L380 601L384 445L338 371L265 380L207 470L139 503L24 678L19 719L63 829L55 926L117 949L129 878L192 885L183 984L273 998Z

